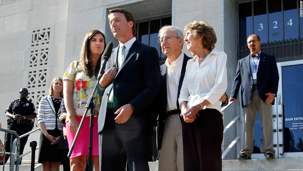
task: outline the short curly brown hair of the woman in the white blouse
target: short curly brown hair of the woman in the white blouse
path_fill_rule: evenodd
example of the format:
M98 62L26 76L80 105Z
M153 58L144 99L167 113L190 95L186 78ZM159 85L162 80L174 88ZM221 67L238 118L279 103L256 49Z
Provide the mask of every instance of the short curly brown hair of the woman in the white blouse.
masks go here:
M184 27L184 32L186 33L187 30L192 29L194 38L202 38L203 40L203 47L208 50L213 50L215 48L215 44L217 42L216 33L214 31L214 28L211 27L207 22L205 21L194 21L192 23L187 24Z

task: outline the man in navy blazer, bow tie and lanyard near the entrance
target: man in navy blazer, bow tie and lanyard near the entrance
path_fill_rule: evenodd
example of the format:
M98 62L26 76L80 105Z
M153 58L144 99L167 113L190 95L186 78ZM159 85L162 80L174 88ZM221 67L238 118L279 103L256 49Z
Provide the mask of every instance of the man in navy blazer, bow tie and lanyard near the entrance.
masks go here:
M256 34L247 38L250 55L238 61L229 101L236 102L241 87L241 99L244 118L243 149L238 160L251 159L254 147L254 122L256 111L260 116L262 131L262 153L266 159L275 159L272 149L271 105L275 103L278 91L279 73L275 56L262 53L261 40Z

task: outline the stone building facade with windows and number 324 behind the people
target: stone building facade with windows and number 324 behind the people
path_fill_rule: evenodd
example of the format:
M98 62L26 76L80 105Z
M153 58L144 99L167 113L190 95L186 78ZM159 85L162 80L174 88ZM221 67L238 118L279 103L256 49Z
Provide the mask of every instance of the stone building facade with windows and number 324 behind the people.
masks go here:
M217 35L215 48L224 51L228 56L228 95L237 68L237 60L249 54L246 45L247 36L253 33L259 34L263 43L262 52L276 56L280 72L278 99L273 106L276 154L279 153L281 158L302 156L303 110L298 98L303 95L302 86L299 86L302 85L303 79L301 73L294 74L303 70L303 17L300 13L302 7L300 2L298 0L1 0L0 110L3 112L0 114L0 121L2 128L6 128L7 118L4 111L11 101L19 98L20 88L25 87L29 90L29 99L37 108L41 97L48 94L53 77L62 77L67 66L72 61L79 60L82 42L89 30L98 29L105 33L106 42L113 42L116 47L118 42L110 31L107 15L110 9L125 8L132 12L136 19L136 38L144 44L156 47L161 63L165 60L157 43L161 26L171 24L183 30L186 24L194 20L204 20L213 26ZM188 56L191 55L186 47L183 47L183 52ZM241 116L240 104L229 106L224 111L224 126L237 115ZM261 147L262 141L260 125L257 118L255 128L257 147ZM222 150L240 135L241 130L241 126L240 128L233 126L227 134L224 134ZM2 132L0 138L3 142ZM39 141L39 133L31 135L28 142L33 140ZM288 147L285 147L285 144L288 144ZM29 149L27 145L25 151ZM237 155L239 151L234 147L226 159L235 159ZM262 158L262 156L255 154L253 158Z

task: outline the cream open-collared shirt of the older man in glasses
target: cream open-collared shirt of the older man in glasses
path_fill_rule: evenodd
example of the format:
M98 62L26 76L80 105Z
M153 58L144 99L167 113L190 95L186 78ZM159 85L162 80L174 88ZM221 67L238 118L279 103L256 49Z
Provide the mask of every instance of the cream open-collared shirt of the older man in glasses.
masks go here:
M177 94L180 81L180 75L182 70L182 63L184 59L184 53L169 65L169 59L167 58L165 64L167 66L166 71L166 85L167 85L167 107L166 111L177 109Z

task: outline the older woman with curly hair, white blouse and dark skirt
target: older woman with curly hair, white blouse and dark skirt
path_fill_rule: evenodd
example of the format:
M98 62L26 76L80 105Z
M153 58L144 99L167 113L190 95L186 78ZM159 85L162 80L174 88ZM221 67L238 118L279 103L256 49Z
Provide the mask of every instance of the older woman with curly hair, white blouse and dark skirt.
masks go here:
M214 29L205 21L184 28L186 47L194 52L188 60L179 103L182 125L184 171L222 170L223 119L219 99L227 88L223 51L214 49Z

